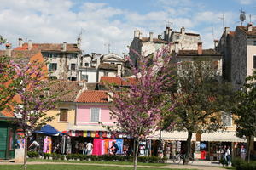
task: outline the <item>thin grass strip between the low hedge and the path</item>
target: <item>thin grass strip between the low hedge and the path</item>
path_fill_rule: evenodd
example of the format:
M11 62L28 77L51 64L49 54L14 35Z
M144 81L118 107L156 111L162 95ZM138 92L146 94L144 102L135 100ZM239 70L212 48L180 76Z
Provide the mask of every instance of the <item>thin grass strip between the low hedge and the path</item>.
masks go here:
M67 163L97 163L97 164L114 164L114 165L133 165L130 161L65 161L65 160L45 160L45 159L28 159L27 161L46 161L46 162L67 162ZM142 163L137 162L137 165L143 166L165 166L165 163Z

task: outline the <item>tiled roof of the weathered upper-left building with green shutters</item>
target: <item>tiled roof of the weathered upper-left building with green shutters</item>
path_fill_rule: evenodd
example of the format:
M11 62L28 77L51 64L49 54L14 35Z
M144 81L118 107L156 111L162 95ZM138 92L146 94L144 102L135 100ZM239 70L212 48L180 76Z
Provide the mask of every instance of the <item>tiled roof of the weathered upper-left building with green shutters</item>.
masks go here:
M38 49L41 51L62 51L63 43L32 43L32 50L35 50L35 49ZM23 43L22 47L14 48L14 50L28 51L28 43ZM67 43L66 52L79 52L79 51L80 49L78 48L76 43Z

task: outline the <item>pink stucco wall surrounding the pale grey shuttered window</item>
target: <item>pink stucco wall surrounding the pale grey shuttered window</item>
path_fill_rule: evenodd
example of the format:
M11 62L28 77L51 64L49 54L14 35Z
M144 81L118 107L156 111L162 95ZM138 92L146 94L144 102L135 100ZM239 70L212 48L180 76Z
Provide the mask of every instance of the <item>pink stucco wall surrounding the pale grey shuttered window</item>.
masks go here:
M108 105L78 105L77 125L98 125L97 122L90 122L90 109L100 108L100 122L104 125L113 125L113 118L110 115Z

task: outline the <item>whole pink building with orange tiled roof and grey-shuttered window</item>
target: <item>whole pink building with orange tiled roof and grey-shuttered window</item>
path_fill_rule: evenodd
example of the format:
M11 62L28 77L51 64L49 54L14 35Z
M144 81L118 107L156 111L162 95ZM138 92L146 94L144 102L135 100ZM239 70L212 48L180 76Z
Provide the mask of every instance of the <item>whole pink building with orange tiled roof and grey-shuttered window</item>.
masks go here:
M108 92L101 90L84 90L77 102L75 126L70 130L104 131L102 125L113 126L113 116L110 115Z

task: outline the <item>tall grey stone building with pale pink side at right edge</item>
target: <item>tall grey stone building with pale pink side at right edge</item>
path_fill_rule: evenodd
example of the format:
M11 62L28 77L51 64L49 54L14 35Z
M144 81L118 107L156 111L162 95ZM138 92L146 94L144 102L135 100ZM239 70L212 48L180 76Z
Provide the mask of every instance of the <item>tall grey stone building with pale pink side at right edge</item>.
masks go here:
M234 32L226 28L216 49L224 54L225 77L240 89L256 68L256 26L236 26Z

